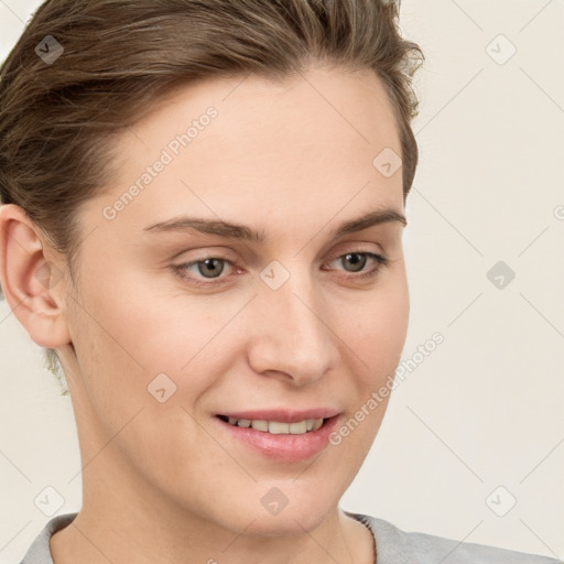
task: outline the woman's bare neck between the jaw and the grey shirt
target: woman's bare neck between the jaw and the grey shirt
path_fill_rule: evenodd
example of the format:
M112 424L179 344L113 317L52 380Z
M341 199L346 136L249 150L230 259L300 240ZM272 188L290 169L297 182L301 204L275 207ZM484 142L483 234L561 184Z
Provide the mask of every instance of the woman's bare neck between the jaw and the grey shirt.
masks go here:
M115 503L111 502L115 500ZM199 516L127 505L117 497L86 501L75 520L51 539L55 564L375 564L371 532L336 508L313 530L290 535L218 527Z

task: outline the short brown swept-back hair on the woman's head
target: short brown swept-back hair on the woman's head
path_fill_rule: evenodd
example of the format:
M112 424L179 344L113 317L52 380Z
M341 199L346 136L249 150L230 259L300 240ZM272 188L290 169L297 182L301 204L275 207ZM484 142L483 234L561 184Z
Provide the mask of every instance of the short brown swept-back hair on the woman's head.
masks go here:
M110 178L112 133L180 84L283 79L312 62L382 80L405 202L419 156L412 77L424 55L401 36L399 11L399 0L47 0L0 67L1 202L25 210L73 276L76 210ZM36 52L47 36L64 50L51 64ZM55 351L46 358L54 371Z

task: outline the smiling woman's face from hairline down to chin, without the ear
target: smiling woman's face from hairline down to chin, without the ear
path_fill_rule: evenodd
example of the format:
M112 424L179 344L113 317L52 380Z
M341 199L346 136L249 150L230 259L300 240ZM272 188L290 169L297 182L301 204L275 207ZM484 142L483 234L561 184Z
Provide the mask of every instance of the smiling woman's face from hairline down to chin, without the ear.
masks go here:
M368 454L408 328L404 225L340 228L404 214L401 169L373 164L401 145L371 72L305 77L178 88L117 139L115 182L79 210L64 365L85 503L302 532ZM248 411L254 430L218 417ZM332 419L261 431L293 415Z

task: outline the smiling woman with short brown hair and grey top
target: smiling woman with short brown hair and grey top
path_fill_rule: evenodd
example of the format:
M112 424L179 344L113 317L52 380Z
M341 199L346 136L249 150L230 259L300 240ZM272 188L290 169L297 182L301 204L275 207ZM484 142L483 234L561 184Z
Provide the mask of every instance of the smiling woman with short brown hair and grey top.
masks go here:
M1 70L0 281L64 370L83 508L22 564L557 562L339 508L408 328L398 10L36 12Z

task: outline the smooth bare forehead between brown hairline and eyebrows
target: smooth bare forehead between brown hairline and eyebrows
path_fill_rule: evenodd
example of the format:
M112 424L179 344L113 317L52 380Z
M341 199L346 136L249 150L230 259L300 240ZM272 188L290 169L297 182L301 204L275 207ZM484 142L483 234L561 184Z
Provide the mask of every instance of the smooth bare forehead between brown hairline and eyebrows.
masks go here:
M104 204L137 185L119 218L139 229L183 210L283 220L296 204L326 219L352 199L357 210L400 208L401 170L386 177L373 164L386 149L401 155L392 106L372 70L207 78L178 86L117 138L116 182Z

